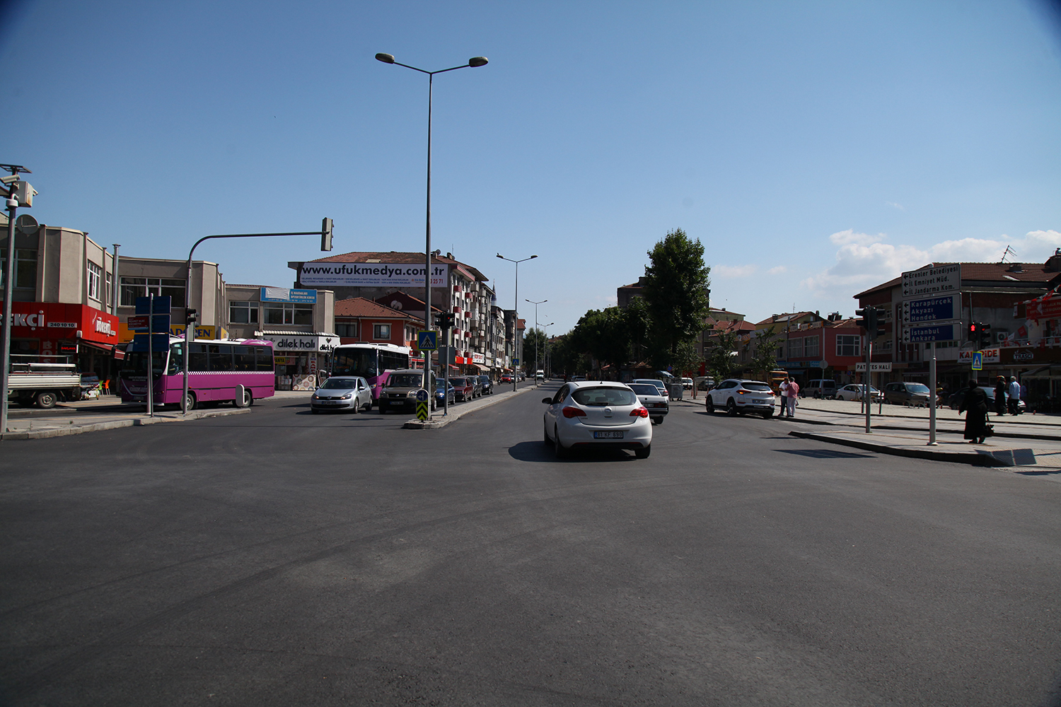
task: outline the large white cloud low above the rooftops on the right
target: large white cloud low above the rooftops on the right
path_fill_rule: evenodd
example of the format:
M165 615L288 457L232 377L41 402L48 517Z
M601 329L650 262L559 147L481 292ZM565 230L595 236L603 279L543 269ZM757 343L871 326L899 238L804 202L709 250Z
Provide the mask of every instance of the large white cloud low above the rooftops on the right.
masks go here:
M839 246L836 264L803 280L800 285L819 298L846 298L898 278L928 263L997 263L1009 246L1016 252L1010 261L1043 263L1061 247L1061 232L1031 231L1023 238L961 238L943 241L927 248L884 243L883 233L870 235L852 229L829 240Z

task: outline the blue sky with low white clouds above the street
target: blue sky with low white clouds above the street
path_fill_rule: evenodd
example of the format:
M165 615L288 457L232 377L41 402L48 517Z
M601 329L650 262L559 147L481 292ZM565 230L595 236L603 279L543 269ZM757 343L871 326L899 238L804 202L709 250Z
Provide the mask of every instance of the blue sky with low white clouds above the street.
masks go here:
M10 4L10 3L8 3ZM698 238L712 304L818 310L928 262L1061 247L1061 22L978 2L14 3L0 162L42 223L126 255L213 233L433 247L550 333ZM290 286L318 240L208 242L230 283Z

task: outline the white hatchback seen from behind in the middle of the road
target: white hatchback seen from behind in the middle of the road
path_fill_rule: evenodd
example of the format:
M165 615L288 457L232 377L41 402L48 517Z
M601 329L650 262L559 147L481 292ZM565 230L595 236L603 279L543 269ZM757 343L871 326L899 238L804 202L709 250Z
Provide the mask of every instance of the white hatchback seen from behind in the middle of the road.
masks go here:
M622 383L571 382L541 401L544 442L558 458L572 448L632 449L638 459L651 452L653 423L637 394Z

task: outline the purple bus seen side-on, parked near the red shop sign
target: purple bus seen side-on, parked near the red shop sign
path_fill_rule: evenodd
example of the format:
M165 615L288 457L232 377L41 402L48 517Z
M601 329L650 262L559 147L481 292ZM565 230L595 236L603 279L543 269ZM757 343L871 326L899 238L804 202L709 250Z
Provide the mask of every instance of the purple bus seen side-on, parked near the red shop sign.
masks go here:
M169 351L152 354L155 405L180 407L184 394L182 338L170 337ZM122 403L147 404L147 351L125 352L118 374ZM197 339L188 350L188 409L203 404L230 402L237 407L253 405L276 391L273 342L259 339ZM243 400L237 386L243 386Z

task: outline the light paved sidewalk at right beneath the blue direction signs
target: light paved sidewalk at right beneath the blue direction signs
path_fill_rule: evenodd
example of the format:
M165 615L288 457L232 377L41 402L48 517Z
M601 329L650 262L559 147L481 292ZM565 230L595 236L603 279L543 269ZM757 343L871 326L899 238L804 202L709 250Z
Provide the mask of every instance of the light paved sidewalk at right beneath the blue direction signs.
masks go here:
M703 397L685 399L678 404L702 406ZM929 445L928 412L928 408L873 405L870 410L873 431L867 434L866 414L858 403L801 397L794 419L775 417L773 420L788 427L793 437L879 454L1061 474L1061 416L990 414L994 437L984 444L970 444L962 439L964 416L950 408L937 408L936 444Z

